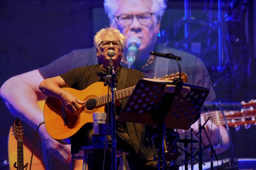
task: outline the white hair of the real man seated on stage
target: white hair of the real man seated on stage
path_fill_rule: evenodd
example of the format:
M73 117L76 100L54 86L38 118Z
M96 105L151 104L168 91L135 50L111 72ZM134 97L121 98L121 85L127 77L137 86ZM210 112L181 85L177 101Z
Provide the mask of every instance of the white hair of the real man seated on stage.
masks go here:
M101 37L103 35L116 35L117 37L120 38L120 42L122 47L124 47L125 45L125 36L117 29L112 28L112 27L107 27L107 28L102 28L101 30L99 30L99 32L96 33L96 35L94 36L94 46L98 49L98 45L100 42L102 42L103 40L101 39Z

